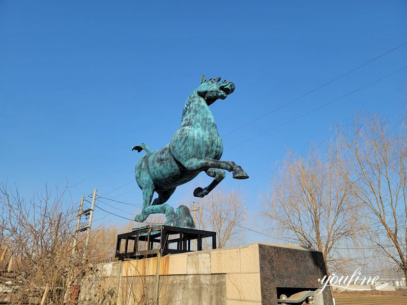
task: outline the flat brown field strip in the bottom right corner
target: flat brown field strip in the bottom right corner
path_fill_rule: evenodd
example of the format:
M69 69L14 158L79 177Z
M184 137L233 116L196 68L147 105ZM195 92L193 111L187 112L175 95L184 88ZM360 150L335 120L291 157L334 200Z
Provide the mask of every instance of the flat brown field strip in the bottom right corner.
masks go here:
M407 305L407 290L334 293L336 305Z

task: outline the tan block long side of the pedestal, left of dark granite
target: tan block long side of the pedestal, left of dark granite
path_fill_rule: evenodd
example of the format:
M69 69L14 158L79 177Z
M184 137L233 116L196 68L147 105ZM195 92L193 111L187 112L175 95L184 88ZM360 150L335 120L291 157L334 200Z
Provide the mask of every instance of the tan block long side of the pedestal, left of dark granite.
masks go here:
M140 282L130 284L131 278L146 277L147 281L151 282L158 274L159 292L163 303L167 301L180 305L261 303L257 244L234 249L167 255L160 258L159 264L157 258L123 262L122 277L127 280L121 285L123 291L119 293L118 304L126 303L125 295L129 294L126 289L131 289L133 294L134 291L142 291ZM182 300L179 298L176 302L177 295L179 296L177 292L173 292L172 299L168 298L168 290L171 288L169 283L172 283L173 290L182 291ZM202 290L207 290L207 293L200 293ZM153 296L151 292L149 289L149 298ZM197 294L201 294L201 298L196 299ZM137 298L141 298L141 295ZM193 301L194 299L196 300Z

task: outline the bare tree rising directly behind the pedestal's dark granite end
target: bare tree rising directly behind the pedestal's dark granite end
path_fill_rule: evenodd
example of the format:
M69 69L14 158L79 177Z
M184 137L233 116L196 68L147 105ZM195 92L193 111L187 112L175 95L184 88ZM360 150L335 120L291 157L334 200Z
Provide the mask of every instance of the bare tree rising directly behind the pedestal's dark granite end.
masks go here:
M286 238L322 252L327 271L343 267L335 245L354 232L354 206L342 170L347 164L328 148L322 158L311 147L305 157L287 154L272 180L271 194L263 196L261 216Z

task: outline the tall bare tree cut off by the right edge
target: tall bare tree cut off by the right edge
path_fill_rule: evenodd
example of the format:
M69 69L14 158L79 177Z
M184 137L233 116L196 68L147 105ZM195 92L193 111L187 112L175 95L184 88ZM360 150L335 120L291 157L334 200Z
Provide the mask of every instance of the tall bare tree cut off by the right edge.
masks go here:
M341 127L338 134L352 161L344 177L370 223L368 236L407 278L406 121L390 125L377 115L357 116L352 132Z

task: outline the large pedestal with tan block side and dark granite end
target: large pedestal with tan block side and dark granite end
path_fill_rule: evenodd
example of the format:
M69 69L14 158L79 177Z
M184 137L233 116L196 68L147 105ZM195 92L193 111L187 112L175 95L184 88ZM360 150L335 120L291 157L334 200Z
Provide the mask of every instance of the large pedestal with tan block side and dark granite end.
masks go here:
M115 262L99 267L86 295L94 295L93 304L153 304L159 295L160 304L171 305L274 305L278 291L318 288L321 259L306 247L253 243ZM332 304L327 291L315 304Z

